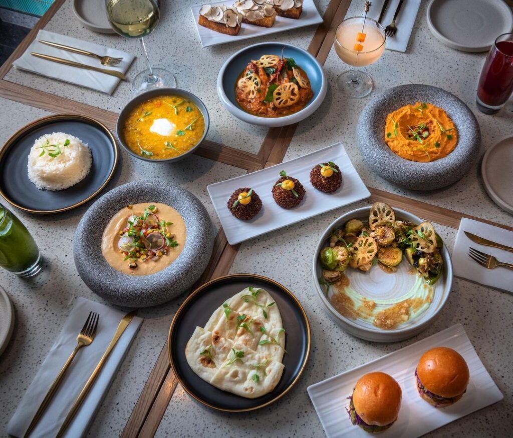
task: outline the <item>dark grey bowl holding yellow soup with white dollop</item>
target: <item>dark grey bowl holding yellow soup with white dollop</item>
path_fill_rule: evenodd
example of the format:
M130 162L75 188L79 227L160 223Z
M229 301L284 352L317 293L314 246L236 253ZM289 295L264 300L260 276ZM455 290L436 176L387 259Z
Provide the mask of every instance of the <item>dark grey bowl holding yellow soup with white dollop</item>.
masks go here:
M125 123L126 118L130 114L130 111L136 106L139 105L141 102L145 102L148 99L152 97L157 96L169 96L169 95L175 95L175 96L181 96L189 101L191 101L194 105L198 107L198 109L203 114L203 118L205 120L205 131L203 132L203 136L201 137L201 140L191 149L189 149L187 152L179 155L174 156L171 158L164 158L163 160L152 160L151 158L147 158L145 156L139 155L134 153L125 143L125 137L123 136L123 124ZM189 91L182 90L180 88L156 88L154 90L148 90L144 93L138 94L135 96L128 104L125 105L125 108L123 108L120 112L120 115L117 116L117 122L116 122L116 136L117 140L119 141L119 144L125 149L130 155L139 158L139 160L148 161L150 163L169 163L172 161L180 161L185 156L191 154L202 144L202 142L205 140L205 137L207 136L208 128L210 126L210 117L208 116L207 107L205 104L201 101L201 99L194 94L190 93Z

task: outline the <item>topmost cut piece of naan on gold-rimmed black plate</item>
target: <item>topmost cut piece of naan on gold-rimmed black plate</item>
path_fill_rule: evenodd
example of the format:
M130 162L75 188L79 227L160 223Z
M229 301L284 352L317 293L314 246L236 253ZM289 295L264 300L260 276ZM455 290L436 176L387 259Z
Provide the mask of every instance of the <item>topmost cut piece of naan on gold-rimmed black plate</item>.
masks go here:
M239 314L258 316L262 318L266 326L282 328L282 317L278 306L271 295L264 289L247 287L227 302L228 306Z

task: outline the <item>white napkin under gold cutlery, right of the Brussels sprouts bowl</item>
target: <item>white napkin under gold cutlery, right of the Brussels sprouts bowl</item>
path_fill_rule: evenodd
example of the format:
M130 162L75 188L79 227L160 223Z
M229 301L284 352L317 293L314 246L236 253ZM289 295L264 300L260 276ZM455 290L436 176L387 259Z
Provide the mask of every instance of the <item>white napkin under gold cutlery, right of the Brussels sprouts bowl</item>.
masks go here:
M513 270L502 267L486 269L468 256L468 249L472 247L486 254L494 255L497 260L505 263L513 263L513 252L479 245L472 242L464 231L511 247L513 247L513 232L463 218L452 251L452 267L456 276L505 292L513 292Z

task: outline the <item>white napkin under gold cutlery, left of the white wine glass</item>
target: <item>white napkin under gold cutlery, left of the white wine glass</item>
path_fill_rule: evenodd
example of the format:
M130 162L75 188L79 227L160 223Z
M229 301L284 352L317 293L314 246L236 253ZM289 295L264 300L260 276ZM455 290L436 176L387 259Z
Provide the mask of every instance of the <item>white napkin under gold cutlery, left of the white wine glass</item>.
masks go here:
M52 43L60 43L66 46L75 47L77 49L87 50L89 52L97 53L98 55L113 56L116 58L123 58L120 64L115 67L106 67L100 63L100 59L91 56L81 55L78 53L69 52L56 47L47 46L46 44L39 43L38 39L50 41ZM34 41L25 50L13 65L21 70L31 71L33 73L41 74L42 76L60 79L70 84L80 85L81 87L91 88L92 90L101 91L102 93L112 94L117 84L121 79L111 76L109 74L98 73L92 70L85 70L78 67L67 66L64 64L57 64L47 59L32 56L30 52L42 53L44 55L56 56L58 58L69 59L81 64L90 66L106 68L108 70L118 70L126 73L130 64L135 56L130 53L122 52L120 50L111 49L109 47L100 46L99 44L89 43L82 39L72 38L70 36L60 35L58 33L40 30L37 33Z

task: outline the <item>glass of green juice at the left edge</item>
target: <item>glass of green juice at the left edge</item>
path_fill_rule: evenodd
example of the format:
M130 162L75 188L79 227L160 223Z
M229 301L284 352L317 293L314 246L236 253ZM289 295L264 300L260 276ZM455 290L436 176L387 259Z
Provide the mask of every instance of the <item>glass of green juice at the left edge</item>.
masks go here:
M25 225L0 204L0 267L20 277L41 271L41 253Z

